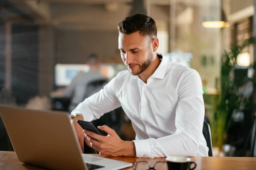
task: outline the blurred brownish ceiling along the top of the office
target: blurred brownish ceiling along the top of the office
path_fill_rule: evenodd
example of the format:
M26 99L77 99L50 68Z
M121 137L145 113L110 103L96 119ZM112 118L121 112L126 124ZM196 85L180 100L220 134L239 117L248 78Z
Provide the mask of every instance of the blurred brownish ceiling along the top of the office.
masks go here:
M39 23L59 29L116 30L117 23L129 15L133 0L9 0ZM170 2L176 15L187 7L209 5L212 0L144 0L150 5L150 16L157 23L168 23Z

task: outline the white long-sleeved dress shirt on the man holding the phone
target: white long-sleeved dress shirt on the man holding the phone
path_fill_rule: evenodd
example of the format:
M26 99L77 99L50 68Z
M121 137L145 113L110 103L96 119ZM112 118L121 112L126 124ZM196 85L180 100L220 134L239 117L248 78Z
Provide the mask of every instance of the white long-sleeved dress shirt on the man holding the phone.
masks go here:
M85 121L92 121L120 106L136 132L137 157L208 156L197 71L163 57L147 83L122 71L71 114L81 113Z

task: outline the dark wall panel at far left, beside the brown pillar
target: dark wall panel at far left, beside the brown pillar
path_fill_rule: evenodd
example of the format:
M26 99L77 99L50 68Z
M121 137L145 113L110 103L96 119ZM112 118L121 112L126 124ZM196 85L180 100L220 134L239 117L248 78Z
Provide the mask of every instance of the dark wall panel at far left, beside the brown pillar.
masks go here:
M12 24L12 94L25 104L39 93L39 28Z

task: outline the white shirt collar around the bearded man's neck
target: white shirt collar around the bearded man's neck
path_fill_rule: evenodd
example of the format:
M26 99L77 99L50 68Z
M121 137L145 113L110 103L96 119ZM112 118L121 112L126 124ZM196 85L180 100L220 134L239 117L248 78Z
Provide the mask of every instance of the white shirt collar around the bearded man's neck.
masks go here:
M154 71L154 73L151 75L151 77L157 78L157 79L163 79L165 77L168 60L166 57L163 57L162 54L157 54L157 57L161 60L160 64L158 65L157 69ZM138 75L133 76L135 79L140 79Z

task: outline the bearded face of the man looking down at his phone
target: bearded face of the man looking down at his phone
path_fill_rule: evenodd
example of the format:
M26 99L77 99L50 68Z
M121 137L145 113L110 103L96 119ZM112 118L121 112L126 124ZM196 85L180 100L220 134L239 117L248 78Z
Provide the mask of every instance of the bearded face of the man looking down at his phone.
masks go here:
M150 37L143 37L139 31L132 34L119 33L118 43L121 57L132 75L141 74L151 64L153 50Z

